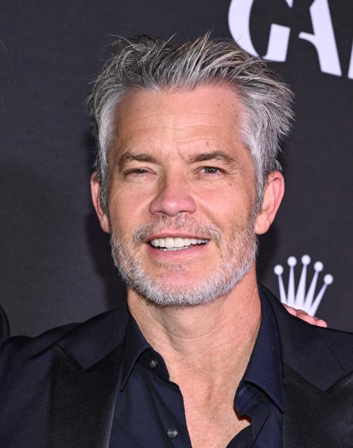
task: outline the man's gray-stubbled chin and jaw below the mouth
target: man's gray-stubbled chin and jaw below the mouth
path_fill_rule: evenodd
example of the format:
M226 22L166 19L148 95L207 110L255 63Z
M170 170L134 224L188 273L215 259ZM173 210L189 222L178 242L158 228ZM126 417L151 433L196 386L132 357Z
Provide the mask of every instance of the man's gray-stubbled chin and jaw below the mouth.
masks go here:
M129 288L161 307L209 304L228 295L250 271L257 249L251 225L233 238L223 256L210 253L208 244L189 249L194 252L185 260L183 251L159 253L152 246L147 253L134 251L113 233L110 241L115 266Z

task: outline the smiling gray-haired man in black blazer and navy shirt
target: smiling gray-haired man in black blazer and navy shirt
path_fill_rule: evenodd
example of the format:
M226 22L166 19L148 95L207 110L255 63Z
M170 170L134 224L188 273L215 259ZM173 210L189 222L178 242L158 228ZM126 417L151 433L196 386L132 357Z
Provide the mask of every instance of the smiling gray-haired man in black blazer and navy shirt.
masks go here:
M91 182L129 313L3 344L3 446L352 447L352 335L257 286L290 102L232 41L117 44Z

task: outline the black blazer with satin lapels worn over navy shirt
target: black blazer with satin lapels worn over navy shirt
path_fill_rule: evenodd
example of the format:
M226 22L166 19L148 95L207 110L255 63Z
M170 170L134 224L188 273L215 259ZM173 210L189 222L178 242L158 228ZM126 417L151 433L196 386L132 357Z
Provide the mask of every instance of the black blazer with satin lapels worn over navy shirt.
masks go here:
M259 289L280 332L283 447L352 448L353 334L308 325ZM127 318L117 309L2 344L1 447L108 448Z

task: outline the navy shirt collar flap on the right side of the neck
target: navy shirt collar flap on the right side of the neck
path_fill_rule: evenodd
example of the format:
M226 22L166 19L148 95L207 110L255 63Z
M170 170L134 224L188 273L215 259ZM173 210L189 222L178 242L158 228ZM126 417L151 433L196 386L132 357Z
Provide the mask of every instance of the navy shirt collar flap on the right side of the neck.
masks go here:
M242 383L246 381L261 388L283 411L280 335L271 304L261 292L260 299L261 324Z

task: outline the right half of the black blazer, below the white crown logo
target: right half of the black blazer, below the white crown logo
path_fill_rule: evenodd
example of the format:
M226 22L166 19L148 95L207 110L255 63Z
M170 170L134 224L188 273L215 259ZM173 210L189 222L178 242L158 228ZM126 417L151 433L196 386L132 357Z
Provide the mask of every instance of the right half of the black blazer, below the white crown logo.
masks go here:
M282 349L284 448L351 448L353 335L317 328L271 302Z

